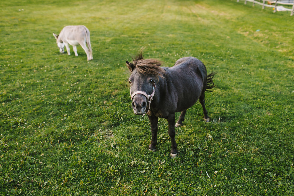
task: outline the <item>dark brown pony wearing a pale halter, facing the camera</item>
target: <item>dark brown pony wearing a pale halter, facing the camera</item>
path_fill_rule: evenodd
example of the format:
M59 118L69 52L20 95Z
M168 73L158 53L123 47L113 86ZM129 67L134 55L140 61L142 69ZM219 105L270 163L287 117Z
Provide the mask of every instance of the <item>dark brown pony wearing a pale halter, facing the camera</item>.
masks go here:
M214 87L216 73L207 76L204 64L194 57L184 57L171 68L160 67L161 61L144 59L143 51L133 57L133 63L126 61L131 71L129 83L132 108L136 115L147 116L151 123L151 144L149 150L156 150L158 118L166 118L168 135L171 138L171 157L178 154L175 140L175 113L181 112L176 127L181 126L186 111L199 102L203 108L204 120L209 122L205 108L205 91Z

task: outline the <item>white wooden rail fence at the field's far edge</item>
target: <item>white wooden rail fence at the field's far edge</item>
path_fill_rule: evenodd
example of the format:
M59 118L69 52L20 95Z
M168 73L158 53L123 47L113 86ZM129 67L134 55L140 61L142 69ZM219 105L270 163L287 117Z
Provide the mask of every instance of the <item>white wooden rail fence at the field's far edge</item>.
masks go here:
M237 2L239 2L240 0L237 0ZM274 13L276 11L291 11L290 16L293 16L293 11L294 11L294 3L285 3L285 2L281 2L278 0L261 0L260 1L255 1L255 0L241 0L241 1L245 1L244 4L247 4L247 1L253 2L253 6L255 6L255 4L259 4L262 5L262 9L264 9L265 7L271 7L274 10ZM267 2L267 3L265 3ZM275 4L275 5L272 5ZM278 5L292 5L292 9L289 8L285 8L283 6L278 6Z

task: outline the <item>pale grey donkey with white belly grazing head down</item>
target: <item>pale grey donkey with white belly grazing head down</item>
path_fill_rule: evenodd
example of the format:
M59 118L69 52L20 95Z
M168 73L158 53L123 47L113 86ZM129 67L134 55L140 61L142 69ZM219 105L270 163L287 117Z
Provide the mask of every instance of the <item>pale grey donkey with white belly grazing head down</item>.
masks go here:
M66 51L68 55L71 55L69 44L73 46L73 50L76 56L78 56L78 52L76 46L79 44L82 46L84 51L87 54L87 60L90 61L93 59L92 48L90 43L90 31L87 27L83 25L78 26L65 26L59 33L56 35L53 33L53 36L56 39L57 46L61 53L64 53L64 46L66 47ZM87 46L86 46L87 43Z

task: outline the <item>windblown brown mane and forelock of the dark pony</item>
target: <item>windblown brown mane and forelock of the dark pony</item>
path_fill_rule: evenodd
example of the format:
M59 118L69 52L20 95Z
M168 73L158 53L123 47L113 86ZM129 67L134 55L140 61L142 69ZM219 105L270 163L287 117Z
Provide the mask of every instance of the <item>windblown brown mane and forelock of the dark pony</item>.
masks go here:
M160 67L162 62L153 58L144 59L143 50L139 51L132 59L139 73L144 75L151 74L157 80L159 77L164 78L165 70Z

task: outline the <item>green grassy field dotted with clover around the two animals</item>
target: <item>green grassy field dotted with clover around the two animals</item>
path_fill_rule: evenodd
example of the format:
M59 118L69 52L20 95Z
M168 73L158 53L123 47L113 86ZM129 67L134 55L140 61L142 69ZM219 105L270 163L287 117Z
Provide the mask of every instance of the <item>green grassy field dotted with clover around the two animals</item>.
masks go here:
M46 3L45 3L46 2ZM229 0L1 1L0 195L294 195L294 17ZM83 24L92 61L52 33ZM217 71L157 151L133 114L125 61ZM176 114L176 118L179 114Z

